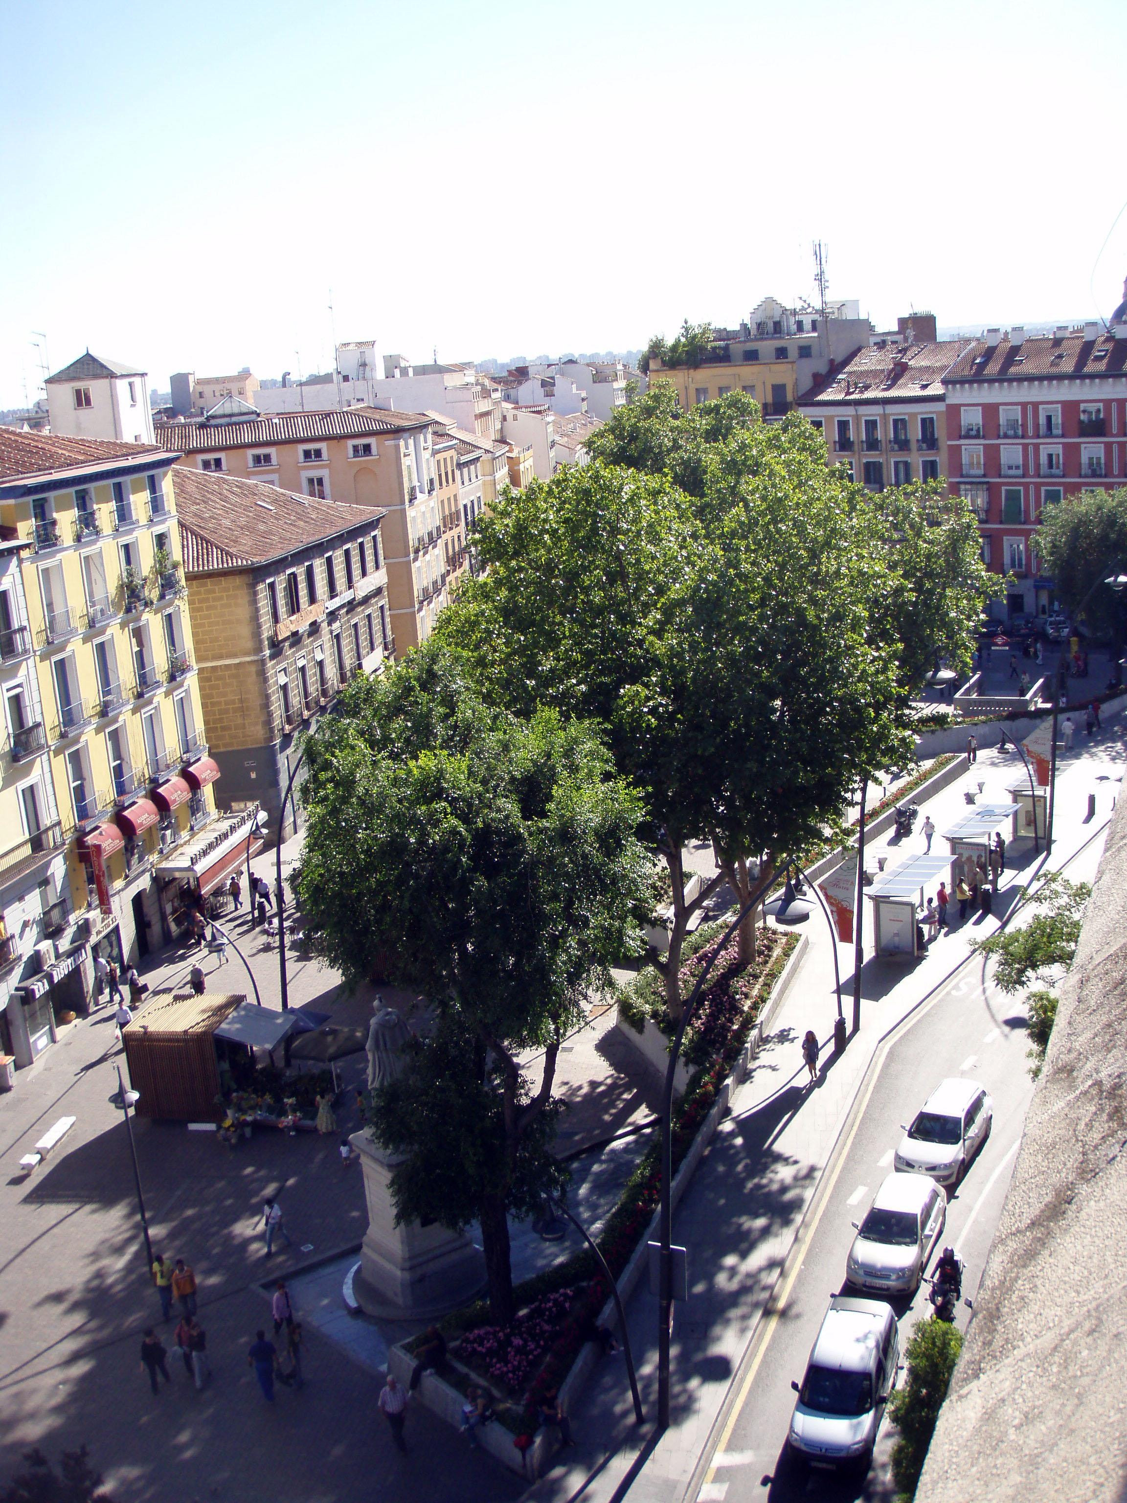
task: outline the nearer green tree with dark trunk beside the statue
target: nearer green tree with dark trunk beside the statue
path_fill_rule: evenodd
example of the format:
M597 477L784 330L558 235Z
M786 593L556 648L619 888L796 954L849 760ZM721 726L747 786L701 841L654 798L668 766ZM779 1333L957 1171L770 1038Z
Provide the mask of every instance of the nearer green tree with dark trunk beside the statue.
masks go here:
M582 721L485 705L434 643L353 681L307 747L296 887L313 942L347 981L391 968L436 1010L373 1102L379 1141L404 1154L397 1214L478 1219L508 1321L506 1217L564 1181L548 1153L559 1046L585 989L639 945L640 800Z

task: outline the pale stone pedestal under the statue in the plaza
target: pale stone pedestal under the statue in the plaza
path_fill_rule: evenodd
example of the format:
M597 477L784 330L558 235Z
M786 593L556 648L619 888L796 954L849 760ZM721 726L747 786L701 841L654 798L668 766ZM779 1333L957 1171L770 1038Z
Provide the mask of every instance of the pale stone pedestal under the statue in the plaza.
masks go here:
M397 1226L389 1187L395 1157L367 1132L353 1133L350 1142L361 1156L368 1201L368 1231L353 1279L361 1308L383 1320L428 1320L479 1294L485 1260L469 1237L437 1223Z

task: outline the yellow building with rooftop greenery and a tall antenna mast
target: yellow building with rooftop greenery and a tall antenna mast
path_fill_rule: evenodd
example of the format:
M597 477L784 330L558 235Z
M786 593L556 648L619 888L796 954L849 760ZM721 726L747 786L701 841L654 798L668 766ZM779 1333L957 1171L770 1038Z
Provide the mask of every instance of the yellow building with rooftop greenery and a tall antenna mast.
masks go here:
M712 329L699 367L670 368L652 361L649 382L672 385L685 410L742 391L754 397L765 418L783 418L819 376L869 344L872 329L852 299L828 305L823 316L765 298L736 329Z

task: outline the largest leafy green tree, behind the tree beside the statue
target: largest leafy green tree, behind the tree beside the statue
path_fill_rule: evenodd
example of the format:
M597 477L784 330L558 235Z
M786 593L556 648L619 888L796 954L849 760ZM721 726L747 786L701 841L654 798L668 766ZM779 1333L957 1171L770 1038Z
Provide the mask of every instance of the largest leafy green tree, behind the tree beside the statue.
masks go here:
M678 418L654 394L642 422L607 425L607 445L651 455L643 469L600 458L505 497L478 534L487 574L439 624L494 702L606 726L672 881L673 1018L696 908L724 878L750 903L908 745L863 493L804 421L766 427L745 398L708 406ZM720 872L690 900L693 839L712 842ZM748 918L745 954L751 942Z

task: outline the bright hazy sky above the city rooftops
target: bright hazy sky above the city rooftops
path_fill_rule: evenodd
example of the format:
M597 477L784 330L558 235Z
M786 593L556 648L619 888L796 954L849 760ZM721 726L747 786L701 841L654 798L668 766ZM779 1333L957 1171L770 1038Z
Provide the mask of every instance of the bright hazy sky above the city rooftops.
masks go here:
M0 407L637 349L771 293L1107 317L1122 0L0 3ZM1121 218L1116 221L1116 216Z

